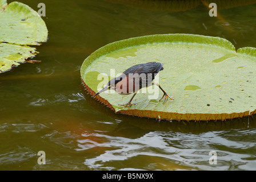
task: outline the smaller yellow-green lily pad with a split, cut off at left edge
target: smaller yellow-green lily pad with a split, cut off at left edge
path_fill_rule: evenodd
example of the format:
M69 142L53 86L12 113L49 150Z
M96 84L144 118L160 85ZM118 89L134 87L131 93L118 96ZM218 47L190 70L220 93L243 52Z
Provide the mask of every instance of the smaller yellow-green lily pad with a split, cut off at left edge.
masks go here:
M35 56L34 47L47 40L45 22L36 11L19 2L0 0L0 73Z

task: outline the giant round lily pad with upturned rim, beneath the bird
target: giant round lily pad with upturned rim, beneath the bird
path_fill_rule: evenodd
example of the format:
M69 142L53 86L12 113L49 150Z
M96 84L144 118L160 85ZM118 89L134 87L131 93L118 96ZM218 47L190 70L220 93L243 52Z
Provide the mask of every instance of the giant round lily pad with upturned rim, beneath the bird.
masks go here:
M99 85L115 76L111 69L122 73L132 65L150 61L164 64L155 81L175 100L159 102L162 92L157 86L147 88L148 93L138 93L133 100L137 105L130 109L118 104L126 104L132 95L105 92L96 98L116 113L158 119L225 120L256 112L256 48L236 51L223 38L166 34L121 40L87 57L81 76L85 88L95 94L101 89ZM158 98L148 97L153 95L150 89L155 93L159 90Z

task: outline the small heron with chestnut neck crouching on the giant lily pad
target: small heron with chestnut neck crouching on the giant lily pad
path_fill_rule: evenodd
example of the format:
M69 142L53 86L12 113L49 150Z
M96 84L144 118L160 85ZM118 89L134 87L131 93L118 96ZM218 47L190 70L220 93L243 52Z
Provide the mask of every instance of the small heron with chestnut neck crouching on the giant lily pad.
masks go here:
M93 97L109 89L114 89L115 92L122 95L134 93L133 97L131 97L127 104L119 104L120 106L125 106L125 108L128 106L130 109L132 105L135 105L131 104L131 101L137 94L138 90L147 86L157 85L163 92L163 97L159 100L159 102L165 98L165 101L163 102L163 104L165 104L168 98L171 100L174 100L174 98L168 96L165 90L163 90L163 88L158 83L152 82L158 72L162 70L163 63L149 62L133 65L132 67L126 69L120 76L111 79L105 88L95 93Z

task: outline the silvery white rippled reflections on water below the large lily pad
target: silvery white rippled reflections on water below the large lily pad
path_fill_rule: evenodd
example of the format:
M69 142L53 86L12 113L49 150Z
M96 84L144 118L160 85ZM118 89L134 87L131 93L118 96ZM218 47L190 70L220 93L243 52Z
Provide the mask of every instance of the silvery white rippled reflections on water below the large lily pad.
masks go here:
M243 131L238 130L238 133ZM143 162L157 160L167 163L159 169L170 169L170 165L179 164L179 169L203 169L203 170L232 170L253 169L249 166L256 164L255 144L253 142L239 142L232 138L224 138L229 131L215 131L201 135L166 133L154 131L136 139L124 137L111 137L102 134L85 134L83 137L90 139L77 140L77 151L97 148L100 155L87 158L84 164L90 169L123 169L133 168L133 165L125 164L131 160L141 158ZM255 137L256 130L250 131ZM234 135L234 134L233 134ZM107 150L106 150L107 148ZM241 154L239 151L251 148L252 154ZM218 165L209 164L210 151L217 152ZM112 162L123 163L121 167L111 166ZM174 165L175 166L175 165ZM175 168L175 167L174 167ZM150 169L144 166L141 169ZM155 168L154 168L155 169ZM255 166L254 166L255 169Z

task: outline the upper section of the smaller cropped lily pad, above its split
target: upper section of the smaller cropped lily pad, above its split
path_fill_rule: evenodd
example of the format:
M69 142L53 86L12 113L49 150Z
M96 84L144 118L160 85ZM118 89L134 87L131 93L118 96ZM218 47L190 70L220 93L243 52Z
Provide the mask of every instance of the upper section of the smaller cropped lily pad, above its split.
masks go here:
M46 40L45 22L29 6L12 2L0 12L0 42L39 45Z

